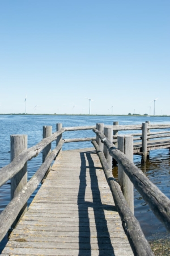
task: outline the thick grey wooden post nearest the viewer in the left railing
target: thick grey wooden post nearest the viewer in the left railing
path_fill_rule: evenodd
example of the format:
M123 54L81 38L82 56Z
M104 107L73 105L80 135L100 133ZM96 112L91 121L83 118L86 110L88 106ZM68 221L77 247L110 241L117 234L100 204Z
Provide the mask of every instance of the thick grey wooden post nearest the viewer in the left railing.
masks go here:
M27 135L11 135L11 162L25 149L27 149ZM25 184L27 184L27 163L11 178L11 200L22 190ZM20 217L22 217L25 212L27 212L27 203L25 203L16 217L16 220L11 225L12 229L15 228Z

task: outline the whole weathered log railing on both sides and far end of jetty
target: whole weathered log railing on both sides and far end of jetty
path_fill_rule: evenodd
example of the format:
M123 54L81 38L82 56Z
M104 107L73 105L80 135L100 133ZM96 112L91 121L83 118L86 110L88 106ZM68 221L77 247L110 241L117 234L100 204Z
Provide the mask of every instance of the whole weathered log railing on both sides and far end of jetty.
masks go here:
M97 127L97 129L96 129ZM148 245L148 242L141 230L139 222L135 219L133 215L133 185L135 188L141 193L143 199L150 205L151 209L155 213L155 215L159 218L160 221L163 222L165 227L170 231L170 200L166 197L160 190L151 183L150 180L143 174L141 170L139 170L132 162L129 160L131 156L127 157L125 152L121 152L121 143L123 143L123 147L127 143L131 144L131 152L133 154L133 137L129 139L125 139L124 136L119 136L118 131L122 130L141 130L142 134L133 134L134 136L141 136L147 142L148 138L155 138L154 136L163 137L165 133L168 132L159 132L159 133L148 133L149 129L164 129L170 128L170 125L149 125L148 123L144 123L142 125L133 125L133 126L104 126L103 123L97 123L96 126L78 126L78 127L62 127L61 123L57 124L56 133L52 134L52 126L44 126L43 127L43 139L41 142L36 144L31 148L23 148L20 151L20 148L17 148L17 144L20 145L20 135L11 135L11 140L13 139L15 143L13 143L13 148L11 148L11 154L15 156L13 159L11 157L12 162L7 166L3 167L0 172L0 187L6 183L9 179L15 179L15 183L19 184L20 180L22 180L25 172L27 172L27 164L28 160L39 155L42 151L42 159L43 163L39 170L37 170L36 174L32 176L31 180L22 184L22 187L18 187L16 185L15 188L11 189L13 196L11 197L10 203L3 210L0 215L0 241L7 233L8 229L12 226L16 225L15 220L19 220L25 210L27 210L27 200L35 191L35 189L40 184L41 180L44 178L46 172L50 169L50 165L53 160L56 158L59 151L62 149L63 143L69 142L80 142L80 141L92 141L92 144L96 148L97 155L99 155L100 162L103 166L104 173L106 179L108 181L109 187L111 188L111 192L113 195L114 202L116 204L118 213L120 214L122 220L122 226L125 230L125 233L128 236L131 248L134 251L135 255L154 255ZM96 137L90 138L74 138L74 139L62 139L62 133L65 131L75 131L75 130L93 130L96 134ZM114 135L113 135L114 131ZM104 135L104 134L105 135ZM132 135L132 134L131 134ZM150 137L147 137L150 135ZM13 137L12 137L13 136ZM166 135L165 137L170 137L170 135ZM25 135L24 135L25 140ZM22 139L23 139L22 138ZM115 142L114 139L117 139ZM141 137L140 137L141 138ZM158 138L158 137L156 137ZM129 142L128 142L129 140ZM19 143L18 143L18 142ZM51 143L56 141L56 148L51 151ZM143 141L143 140L142 140ZM115 147L114 142L117 143L116 146L120 147L118 150ZM24 142L25 143L25 142ZM119 144L119 145L118 145ZM20 147L20 146L19 146ZM145 144L146 147L146 144ZM104 152L103 152L104 151ZM130 152L130 150L128 150ZM19 153L18 153L19 152ZM118 162L118 169L122 172L120 185L118 185L117 181L114 179L112 175L112 158ZM129 159L128 159L129 158ZM21 171L25 171L21 175ZM124 179L124 173L128 176ZM120 179L120 180L121 180ZM130 182L129 182L130 181ZM125 184L125 185L124 185ZM125 187L124 187L125 186ZM122 189L122 190L121 190ZM123 191L123 193L122 193ZM128 191L128 192L127 192ZM131 191L129 193L129 191ZM126 195L126 192L128 195ZM124 197L125 196L125 197ZM128 201L128 203L127 203Z

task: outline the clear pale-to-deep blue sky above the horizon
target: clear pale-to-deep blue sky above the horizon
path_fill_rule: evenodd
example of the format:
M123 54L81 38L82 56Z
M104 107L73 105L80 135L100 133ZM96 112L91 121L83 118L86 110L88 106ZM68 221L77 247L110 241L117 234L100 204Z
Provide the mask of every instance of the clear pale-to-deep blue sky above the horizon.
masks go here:
M0 113L170 114L169 0L1 0Z

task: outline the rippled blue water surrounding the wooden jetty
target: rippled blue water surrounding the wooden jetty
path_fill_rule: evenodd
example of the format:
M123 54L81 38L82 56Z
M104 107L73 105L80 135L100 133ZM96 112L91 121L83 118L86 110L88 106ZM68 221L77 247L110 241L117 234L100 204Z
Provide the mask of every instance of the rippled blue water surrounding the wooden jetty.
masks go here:
M10 163L10 135L27 134L28 147L41 141L42 126L53 126L56 131L56 123L63 123L66 126L88 126L96 123L112 125L113 121L118 121L120 125L141 124L145 121L152 123L170 123L169 117L106 117L106 116L54 116L54 115L0 115L1 134L0 134L0 168ZM154 130L152 130L154 131ZM134 133L135 131L129 131ZM120 131L120 134L129 133ZM139 132L139 131L137 131ZM94 137L94 133L87 131L69 131L63 134L63 138ZM54 148L55 142L52 143ZM74 148L92 147L91 142L76 142L63 145L63 150ZM28 162L28 179L38 170L42 163L42 154ZM170 198L170 151L169 149L154 150L150 152L150 159L146 167L141 166L141 156L134 156L134 163L145 172L148 179ZM1 172L1 170L0 170ZM114 176L117 175L117 168L113 170ZM39 188L37 188L38 190ZM37 190L28 201L31 203ZM5 184L0 188L0 212L5 209L10 201L10 185ZM164 236L166 230L154 216L141 195L134 189L135 217L139 220L145 236L151 240L156 237ZM7 242L7 236L0 243L0 253Z

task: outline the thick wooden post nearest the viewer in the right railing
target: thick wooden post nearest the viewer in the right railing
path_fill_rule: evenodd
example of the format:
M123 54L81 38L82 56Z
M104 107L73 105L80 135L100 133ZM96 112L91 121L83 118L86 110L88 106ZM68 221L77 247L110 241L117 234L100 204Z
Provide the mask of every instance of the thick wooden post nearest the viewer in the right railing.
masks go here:
M133 136L118 136L117 142L118 149L122 151L131 162L133 162ZM125 174L120 164L118 164L118 182L121 186L122 192L125 196L128 206L131 209L131 212L134 213L133 183L131 183L129 177Z

